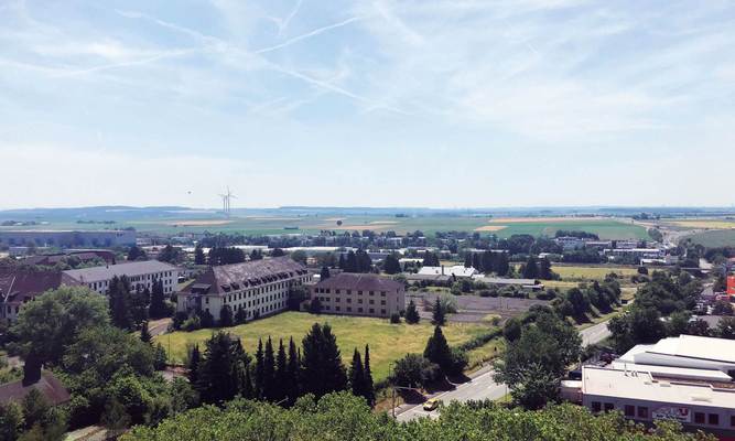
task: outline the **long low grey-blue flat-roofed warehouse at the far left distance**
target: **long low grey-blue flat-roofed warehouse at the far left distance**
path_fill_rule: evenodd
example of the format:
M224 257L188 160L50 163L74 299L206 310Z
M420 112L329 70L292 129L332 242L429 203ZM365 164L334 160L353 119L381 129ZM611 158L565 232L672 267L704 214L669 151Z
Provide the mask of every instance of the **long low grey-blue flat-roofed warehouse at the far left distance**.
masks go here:
M0 245L37 247L117 247L136 245L136 232L128 229L58 230L13 229L0 232Z

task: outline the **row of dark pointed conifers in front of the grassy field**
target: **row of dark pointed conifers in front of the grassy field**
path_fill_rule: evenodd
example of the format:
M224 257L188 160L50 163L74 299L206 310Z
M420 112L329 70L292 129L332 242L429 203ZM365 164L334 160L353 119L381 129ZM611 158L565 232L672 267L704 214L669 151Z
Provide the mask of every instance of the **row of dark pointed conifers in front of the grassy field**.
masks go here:
M303 337L301 349L293 338L287 345L279 341L275 348L269 337L264 345L262 341L258 343L253 358L239 338L220 331L206 342L203 353L194 346L186 364L190 383L207 404L221 405L240 396L288 407L306 394L322 397L352 390L372 406L369 346L363 354L364 357L355 349L347 370L329 325L314 323Z

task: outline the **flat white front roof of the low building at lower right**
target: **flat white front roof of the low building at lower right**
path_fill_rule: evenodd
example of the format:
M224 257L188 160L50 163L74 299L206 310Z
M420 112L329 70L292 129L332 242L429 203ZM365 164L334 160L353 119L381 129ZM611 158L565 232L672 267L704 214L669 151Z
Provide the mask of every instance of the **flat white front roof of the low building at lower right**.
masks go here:
M642 401L735 409L735 388L707 384L657 380L648 373L582 367L582 394Z

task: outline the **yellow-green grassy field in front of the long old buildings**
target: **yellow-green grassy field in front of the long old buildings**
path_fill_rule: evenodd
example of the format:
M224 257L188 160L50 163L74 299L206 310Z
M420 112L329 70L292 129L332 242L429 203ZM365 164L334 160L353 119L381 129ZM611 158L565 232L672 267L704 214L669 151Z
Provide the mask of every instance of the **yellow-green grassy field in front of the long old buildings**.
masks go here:
M433 332L433 326L425 321L417 325L390 324L386 319L316 316L304 312L284 312L272 318L228 327L225 331L240 337L246 351L252 354L258 347L258 338L268 338L269 335L275 345L279 338L288 342L291 336L300 345L301 340L315 322L329 323L337 336L337 344L346 365L349 365L355 348L363 352L365 344L369 344L370 363L376 381L388 376L388 366L391 362L408 353L422 353L426 340ZM456 345L484 334L490 329L491 326L483 324L451 323L443 327L443 332L450 345ZM171 361L181 363L186 354L187 344L198 343L203 346L213 332L213 330L174 332L158 336L155 341L170 351Z

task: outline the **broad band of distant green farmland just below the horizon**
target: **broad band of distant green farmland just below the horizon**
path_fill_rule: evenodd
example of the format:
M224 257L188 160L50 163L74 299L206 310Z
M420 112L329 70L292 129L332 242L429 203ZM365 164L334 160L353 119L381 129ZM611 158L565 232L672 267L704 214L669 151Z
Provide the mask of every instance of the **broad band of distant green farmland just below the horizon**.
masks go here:
M342 225L337 225L337 220ZM646 239L646 228L631 225L620 219L610 218L526 218L522 222L493 222L490 217L472 216L418 216L418 217L390 217L390 216L344 216L326 217L316 215L304 216L251 216L234 217L195 217L190 218L158 218L145 220L121 220L110 225L77 224L75 222L52 222L48 224L30 227L0 227L1 229L102 229L133 227L139 232L152 232L163 234L176 234L185 232L226 232L244 234L282 234L282 233L318 233L322 229L334 230L363 230L376 232L393 230L398 234L421 230L433 236L436 232L475 232L482 234L495 234L506 238L516 234L530 234L532 236L553 236L559 229L585 230L597 234L604 239ZM287 229L290 228L290 229ZM294 229L298 228L298 229ZM494 229L494 230L490 230Z

